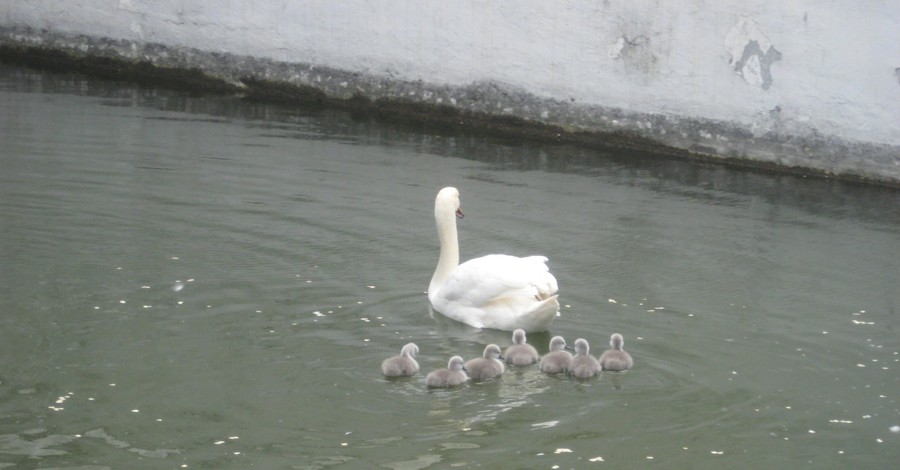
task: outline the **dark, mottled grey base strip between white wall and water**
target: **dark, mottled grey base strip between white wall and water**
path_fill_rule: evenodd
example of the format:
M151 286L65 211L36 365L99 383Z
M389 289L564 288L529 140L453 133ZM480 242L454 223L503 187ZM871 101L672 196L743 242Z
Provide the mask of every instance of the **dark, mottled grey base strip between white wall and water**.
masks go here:
M620 148L900 187L897 147L817 134L754 135L733 123L566 103L496 82L430 85L311 64L9 28L0 28L0 62L192 94L336 108L429 130Z

